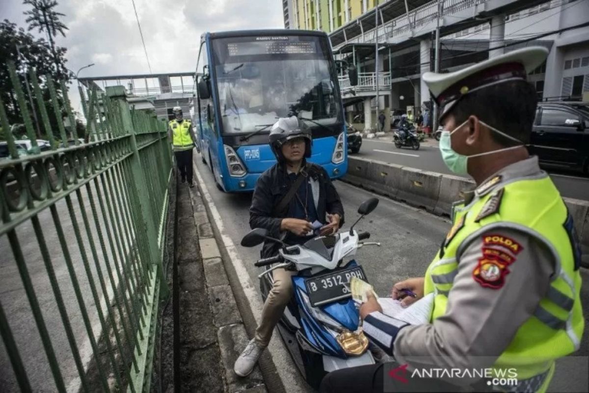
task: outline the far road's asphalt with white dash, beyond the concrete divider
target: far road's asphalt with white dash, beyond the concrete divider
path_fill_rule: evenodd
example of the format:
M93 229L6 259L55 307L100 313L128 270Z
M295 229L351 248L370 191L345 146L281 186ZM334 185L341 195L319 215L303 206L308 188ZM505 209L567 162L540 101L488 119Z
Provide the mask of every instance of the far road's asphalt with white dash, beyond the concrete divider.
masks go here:
M432 172L452 174L448 167L445 166L444 161L442 161L436 140L426 139L419 150L416 151L411 150L409 147L396 148L391 140L392 137L365 138L362 141L360 152L354 154L354 156ZM562 196L589 200L589 177L584 177L583 174L575 171L542 167L550 173L552 181L554 181Z

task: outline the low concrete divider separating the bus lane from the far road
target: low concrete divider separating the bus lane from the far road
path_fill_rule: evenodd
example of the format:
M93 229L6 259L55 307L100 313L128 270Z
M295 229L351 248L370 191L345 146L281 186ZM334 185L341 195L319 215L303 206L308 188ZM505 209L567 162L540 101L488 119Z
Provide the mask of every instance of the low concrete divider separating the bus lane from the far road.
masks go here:
M452 203L464 196L462 191L474 186L473 181L458 176L353 156L349 156L348 173L342 180L445 216L449 216ZM581 265L589 267L589 201L563 199L581 242Z

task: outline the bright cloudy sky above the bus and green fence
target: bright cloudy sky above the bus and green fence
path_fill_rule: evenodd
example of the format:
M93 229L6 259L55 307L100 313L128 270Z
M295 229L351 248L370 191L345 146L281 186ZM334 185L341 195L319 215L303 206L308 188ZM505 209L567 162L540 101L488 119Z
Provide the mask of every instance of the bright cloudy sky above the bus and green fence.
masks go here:
M57 44L68 49L68 68L95 63L80 77L149 73L131 0L58 3L69 30ZM153 72L193 71L205 31L284 28L282 0L135 0L135 6ZM21 0L0 0L0 19L26 27L28 8Z

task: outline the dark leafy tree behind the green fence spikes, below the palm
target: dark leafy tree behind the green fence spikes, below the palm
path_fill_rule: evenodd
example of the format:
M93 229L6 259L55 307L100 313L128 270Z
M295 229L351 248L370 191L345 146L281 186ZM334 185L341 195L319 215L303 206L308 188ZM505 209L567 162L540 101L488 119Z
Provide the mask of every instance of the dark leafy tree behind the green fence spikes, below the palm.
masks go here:
M16 45L19 45L21 48L21 57L18 57L16 52ZM67 62L65 59L66 51L67 49L62 47L55 47L54 49L54 53L57 55L58 61L62 65L65 65ZM8 74L8 67L6 67L6 63L9 60L12 60L15 62L16 73L18 74L25 94L26 90L24 89L24 72L27 72L29 68L35 68L35 70L37 70L43 100L46 103L45 108L47 108L47 113L49 115L51 130L56 137L59 137L57 118L55 117L55 111L52 107L47 83L45 82L45 75L50 75L51 79L54 81L59 105L62 107L62 92L61 87L59 87L57 81L59 80L60 75L62 78L65 76L65 78L69 80L72 77L72 74L69 71L67 71L67 74L65 75L63 72L58 73L54 62L54 53L45 39L37 39L33 37L30 33L27 33L22 28L17 28L16 24L6 19L0 22L0 97L4 102L4 108L6 110L8 122L10 124L23 123L22 114L18 107L12 81ZM39 108L37 107L35 93L32 92L32 94L34 96L33 98L35 101L35 107L37 109L37 117L40 120L41 114L39 113ZM27 101L28 105L28 100L25 101ZM28 108L29 111L31 111L31 107L29 106ZM47 135L49 130L45 130L44 124L41 124L41 128L42 133Z

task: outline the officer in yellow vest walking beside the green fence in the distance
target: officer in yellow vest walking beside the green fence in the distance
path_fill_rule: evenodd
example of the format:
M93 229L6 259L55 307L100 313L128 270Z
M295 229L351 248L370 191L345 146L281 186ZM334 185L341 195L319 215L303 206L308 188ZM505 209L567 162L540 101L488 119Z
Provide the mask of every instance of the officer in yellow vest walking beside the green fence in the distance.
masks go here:
M168 133L172 138L174 156L176 156L182 183L188 180L188 185L194 187L192 181L192 149L196 147L196 137L194 136L191 121L183 118L182 108L174 107L173 111L176 118L168 123Z

